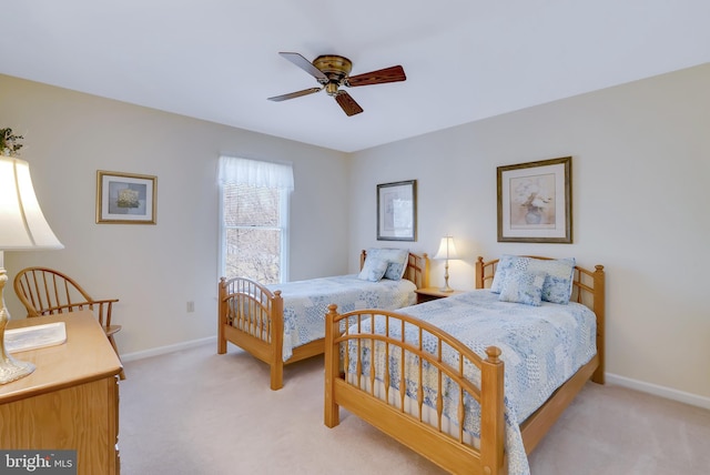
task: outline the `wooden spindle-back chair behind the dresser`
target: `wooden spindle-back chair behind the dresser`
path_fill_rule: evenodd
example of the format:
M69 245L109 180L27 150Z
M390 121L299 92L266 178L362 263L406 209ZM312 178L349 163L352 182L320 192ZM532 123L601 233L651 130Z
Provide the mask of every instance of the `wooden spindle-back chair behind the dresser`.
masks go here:
M27 309L28 317L90 310L119 355L113 335L121 331L121 325L111 324L111 311L118 299L92 299L73 279L48 267L27 267L20 271L14 277L14 292ZM123 370L120 377L125 378Z

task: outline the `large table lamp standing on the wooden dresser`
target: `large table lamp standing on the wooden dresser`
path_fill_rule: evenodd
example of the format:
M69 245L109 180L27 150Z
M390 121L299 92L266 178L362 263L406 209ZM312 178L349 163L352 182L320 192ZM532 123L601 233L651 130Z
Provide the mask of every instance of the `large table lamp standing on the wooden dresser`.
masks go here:
M4 348L4 329L10 314L4 306L3 290L8 274L3 252L62 247L37 201L28 162L0 155L0 384L34 371L32 363L16 360Z

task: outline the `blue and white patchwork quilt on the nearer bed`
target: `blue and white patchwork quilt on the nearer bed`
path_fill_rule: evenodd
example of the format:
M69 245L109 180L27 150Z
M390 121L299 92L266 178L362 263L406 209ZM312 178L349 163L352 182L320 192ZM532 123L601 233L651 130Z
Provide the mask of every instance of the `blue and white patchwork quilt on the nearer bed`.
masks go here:
M489 290L478 290L453 295L415 305L398 311L429 322L455 336L462 343L474 350L476 354L486 357L488 346L498 346L505 362L505 420L506 420L506 455L508 471L511 475L527 475L530 473L519 424L532 414L549 396L572 376L577 370L588 363L596 354L596 316L588 307L569 303L567 305L542 302L540 306L518 303L500 302L498 294ZM363 322L363 332L369 332L371 321ZM385 333L384 317L376 319L376 333ZM412 334L409 334L412 330ZM356 327L351 327L356 333ZM398 325L390 325L389 334L399 335ZM418 333L409 327L405 330L408 342L418 343ZM368 342L367 340L363 341ZM376 344L381 345L381 343ZM368 346L365 343L365 346ZM427 343L424 336L424 348L435 353L435 342ZM355 351L351 345L351 352ZM393 352L389 361L390 387L399 390L398 352ZM363 351L362 374L369 375L371 350ZM376 350L377 355L384 351ZM412 356L414 358L414 356ZM444 352L444 358L446 352ZM351 356L348 372L355 373L355 356ZM453 364L453 361L449 361ZM384 362L376 361L376 378L382 382ZM405 376L418 377L415 361L407 362ZM458 364L453 364L454 367ZM480 373L477 367L469 365L467 377L478 387ZM365 378L367 380L367 378ZM427 382L428 380L428 382ZM434 373L424 375L424 404L436 407L437 380ZM430 385L429 385L430 383ZM444 394L444 413L456 425L456 408L458 406L458 391L447 391ZM407 384L407 396L417 398L417 384ZM480 406L470 398L465 401L467 413L464 431L471 439L478 441L480 435Z

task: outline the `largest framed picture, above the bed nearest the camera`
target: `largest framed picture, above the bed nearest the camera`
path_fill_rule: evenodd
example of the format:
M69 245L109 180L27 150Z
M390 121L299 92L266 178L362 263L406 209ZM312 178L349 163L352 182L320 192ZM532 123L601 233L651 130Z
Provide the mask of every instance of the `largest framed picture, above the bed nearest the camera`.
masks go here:
M498 166L498 242L572 242L572 158Z

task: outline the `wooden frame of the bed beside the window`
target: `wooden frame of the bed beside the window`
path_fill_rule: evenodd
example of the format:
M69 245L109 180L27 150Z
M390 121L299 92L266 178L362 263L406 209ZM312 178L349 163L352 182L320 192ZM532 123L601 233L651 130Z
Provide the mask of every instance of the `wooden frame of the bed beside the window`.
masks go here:
M361 253L361 269L366 252ZM429 257L409 253L404 277L417 286L429 285ZM293 355L283 361L284 301L281 291L272 292L258 282L244 277L219 283L217 354L226 353L226 343L250 353L271 367L271 388L284 385L284 365L323 354L324 338L293 348ZM325 314L324 314L325 316ZM247 323L250 322L250 323Z

